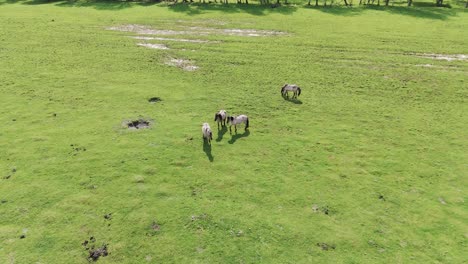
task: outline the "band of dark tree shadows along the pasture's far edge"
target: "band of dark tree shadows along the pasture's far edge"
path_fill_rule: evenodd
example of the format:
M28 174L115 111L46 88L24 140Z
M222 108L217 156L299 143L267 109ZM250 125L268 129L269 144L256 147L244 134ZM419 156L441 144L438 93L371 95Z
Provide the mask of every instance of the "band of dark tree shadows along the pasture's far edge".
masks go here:
M22 3L25 5L53 4L60 7L93 7L98 10L120 10L134 6L152 6L161 5L168 10L186 13L188 15L198 15L210 11L220 11L224 13L248 13L252 15L267 15L269 13L280 13L289 15L297 11L300 5L260 5L260 4L220 4L220 3L170 3L156 1L125 1L125 0L0 0L0 5ZM455 2L457 7L464 6L465 1ZM275 8L273 8L275 7ZM384 11L392 14L405 16L446 20L449 17L456 16L457 12L464 12L462 8L451 8L450 4L444 4L436 7L435 2L413 2L412 7L407 6L385 6L385 5L363 5L363 6L314 6L303 5L306 9L314 9L331 15L356 16L367 10Z

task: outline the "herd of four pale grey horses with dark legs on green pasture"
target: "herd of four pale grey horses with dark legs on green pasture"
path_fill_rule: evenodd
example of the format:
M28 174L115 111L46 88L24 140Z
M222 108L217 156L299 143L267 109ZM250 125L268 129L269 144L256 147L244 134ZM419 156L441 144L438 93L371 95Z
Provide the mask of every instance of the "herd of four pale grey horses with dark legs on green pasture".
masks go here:
M295 99L299 95L301 95L301 88L295 84L285 84L281 87L281 95L285 98L289 98L289 92L292 92L292 98ZM219 110L215 114L214 121L219 126L226 126L226 123L229 125L229 133L232 134L231 127L234 126L234 131L237 133L237 125L245 124L244 130L249 128L249 117L247 115L238 115L238 116L229 116L226 110ZM203 123L202 125L202 134L203 140L207 140L208 144L211 144L211 140L213 140L213 132L211 131L210 124Z

